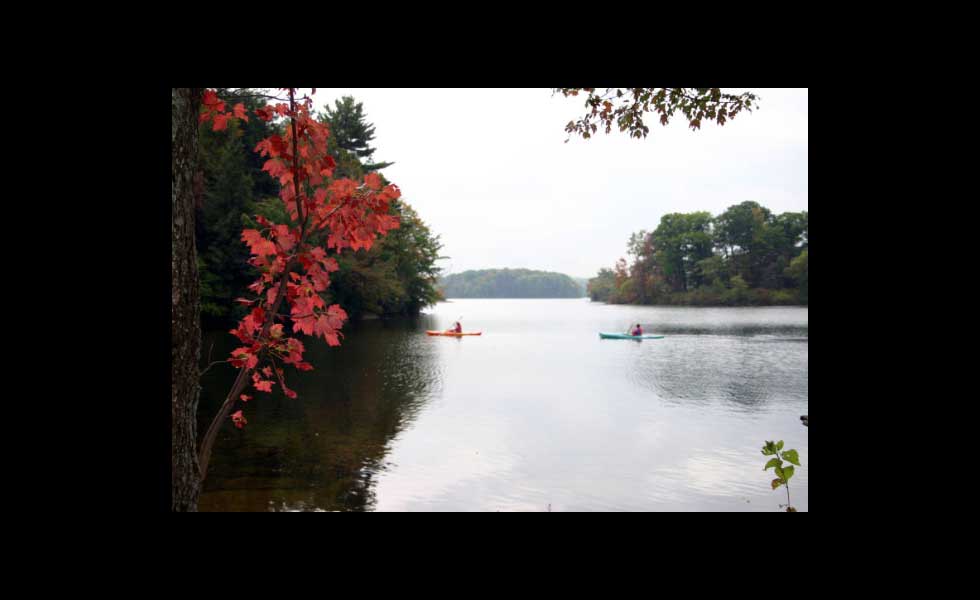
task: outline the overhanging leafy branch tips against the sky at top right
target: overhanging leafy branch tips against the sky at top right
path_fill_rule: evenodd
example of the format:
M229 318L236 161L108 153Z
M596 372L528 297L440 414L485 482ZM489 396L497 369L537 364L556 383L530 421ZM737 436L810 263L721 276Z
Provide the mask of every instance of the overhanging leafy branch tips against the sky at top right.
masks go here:
M700 129L703 119L724 125L743 110L752 112L753 103L759 99L748 92L724 94L720 88L606 88L601 94L595 88L558 88L555 91L566 98L586 94L585 107L589 112L565 126L569 139L573 134L588 139L600 126L609 133L613 125L622 132L629 132L630 137L644 138L650 128L644 124L643 115L650 111L660 115L661 125L667 125L677 111L684 113L691 129Z

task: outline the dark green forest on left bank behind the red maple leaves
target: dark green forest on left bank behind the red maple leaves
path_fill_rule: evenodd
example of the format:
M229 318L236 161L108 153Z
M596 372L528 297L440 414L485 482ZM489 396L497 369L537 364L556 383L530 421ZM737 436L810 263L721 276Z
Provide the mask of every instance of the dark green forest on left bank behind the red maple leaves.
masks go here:
M219 97L241 98L248 111L264 105L250 89L217 89ZM371 146L374 126L362 103L346 96L327 104L317 114L329 126L327 148L336 161L334 179L363 179L391 162L375 162ZM256 144L282 135L283 124L262 119L229 119L221 131L208 123L200 126L200 164L196 183L196 243L200 274L202 326L225 327L248 312L235 298L243 295L258 271L249 262L242 242L243 228L256 227L256 218L288 222L280 184L262 169L265 159ZM392 201L390 213L400 226L380 238L369 250L344 249L336 258L339 270L331 274L323 299L339 304L352 318L414 315L438 299L436 260L441 244L411 205Z

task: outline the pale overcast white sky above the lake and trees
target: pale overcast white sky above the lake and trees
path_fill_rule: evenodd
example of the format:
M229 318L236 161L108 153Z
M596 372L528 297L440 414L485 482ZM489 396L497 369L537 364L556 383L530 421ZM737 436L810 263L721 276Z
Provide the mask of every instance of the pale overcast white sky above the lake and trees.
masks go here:
M302 90L308 93L309 90ZM322 111L341 96L375 126L373 160L440 236L447 273L527 268L594 277L626 256L630 234L673 212L754 200L773 213L808 208L808 90L752 91L759 107L691 130L677 113L650 134L615 127L565 140L584 97L549 89L317 88Z

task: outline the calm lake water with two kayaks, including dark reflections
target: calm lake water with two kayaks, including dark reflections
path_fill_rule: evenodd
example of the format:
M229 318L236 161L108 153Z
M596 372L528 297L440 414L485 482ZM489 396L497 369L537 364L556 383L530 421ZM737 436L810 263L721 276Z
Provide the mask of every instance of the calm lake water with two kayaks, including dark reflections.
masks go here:
M480 337L429 337L462 317ZM642 323L661 340L600 340ZM785 440L808 510L808 309L461 299L307 342L290 400L249 392L202 511L778 511L760 448ZM205 336L226 356L231 335ZM205 376L199 430L229 389Z

